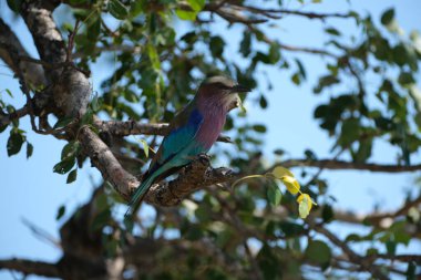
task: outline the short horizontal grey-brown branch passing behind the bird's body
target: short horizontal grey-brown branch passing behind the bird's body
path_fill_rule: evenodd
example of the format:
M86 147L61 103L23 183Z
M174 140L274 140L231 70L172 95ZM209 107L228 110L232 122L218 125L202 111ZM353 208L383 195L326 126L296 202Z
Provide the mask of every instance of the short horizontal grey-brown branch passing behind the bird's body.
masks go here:
M165 136L168 134L168 124L143 124L135 121L101 121L95 120L95 126L101 131L106 131L115 136L129 136L129 135L161 135ZM219 142L232 143L228 136L220 135L218 137Z

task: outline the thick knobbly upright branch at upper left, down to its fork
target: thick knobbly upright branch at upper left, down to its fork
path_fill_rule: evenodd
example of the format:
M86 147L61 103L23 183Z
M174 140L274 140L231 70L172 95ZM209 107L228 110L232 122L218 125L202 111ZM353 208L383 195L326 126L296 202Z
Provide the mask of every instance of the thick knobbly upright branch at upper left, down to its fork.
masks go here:
M47 79L53 84L53 98L60 115L79 117L84 114L91 85L84 73L69 61L63 38L52 18L55 1L25 1L22 17L35 42L41 60L52 68L44 68ZM71 41L71 40L69 40ZM70 42L72 44L72 42ZM58 66L64 65L66 66Z

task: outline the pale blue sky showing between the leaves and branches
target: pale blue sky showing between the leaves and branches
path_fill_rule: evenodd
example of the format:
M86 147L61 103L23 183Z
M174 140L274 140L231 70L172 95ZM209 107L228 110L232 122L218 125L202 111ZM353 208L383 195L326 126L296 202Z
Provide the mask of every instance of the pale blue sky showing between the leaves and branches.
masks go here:
M288 1L284 2L288 3ZM403 30L410 32L421 27L421 17L419 17L421 2L419 0L355 0L350 2L325 0L322 4L309 6L308 10L320 12L348 11L349 9L360 12L368 11L378 21L382 11L396 7L397 18ZM12 23L17 33L23 34L21 41L25 42L27 50L30 54L38 56L24 24L21 21L13 21L8 8L4 8L6 1L0 0L0 17L7 23ZM342 33L352 32L352 24L346 20L328 22L340 29ZM322 23L319 21L287 17L281 21L280 29L270 30L269 33L273 38L280 38L283 42L291 45L322 48L322 42L327 38L320 32L321 27ZM225 27L216 25L213 32L230 32L233 40L239 39L235 28L226 31ZM236 55L236 52L237 49L228 48L225 55ZM311 55L299 55L299 58L302 59L308 72L308 81L305 84L299 87L294 86L289 80L290 72L268 69L267 79L274 84L274 90L266 93L269 101L268 110L261 111L251 102L246 102L247 118L253 123L264 123L268 126L263 151L268 157L275 148L279 147L288 151L291 157L301 157L306 148L311 148L318 156L324 157L329 155L332 146L327 134L318 127L312 118L315 105L320 102L319 97L312 94L312 86L318 76L324 73L324 70L320 69L320 60ZM101 65L96 65L92 73L93 89L99 90L101 81L109 72ZM19 104L22 105L24 100L18 83L4 63L0 62L0 94L4 98L7 98L6 89L9 89L14 95L13 100L8 101L20 107ZM265 89L258 91L265 91ZM89 199L94 185L92 182L97 182L100 174L90 164L85 164L83 169L78 172L76 182L70 185L65 184L65 176L52 173L52 167L60 160L60 152L65 143L52 136L32 133L28 117L21 120L21 124L28 131L28 139L34 145L33 156L30 159L25 158L24 149L23 153L9 158L6 151L9 133L0 134L0 225L2 225L0 259L17 257L57 261L61 257L61 251L51 243L39 240L23 224L23 220L31 221L53 238L59 239L58 230L63 219L55 220L58 208L62 205L66 207L65 220L65 217L69 217L75 207L83 205ZM394 158L396 152L387 145L379 144L370 160L387 164L393 163ZM420 163L420 155L413 157L412 162ZM361 214L370 211L374 205L379 205L382 210L392 210L399 207L404 198L404 191L413 186L415 176L417 174L413 173L399 175L368 172L326 173L331 186L329 191L337 198L336 206ZM345 235L346 231L343 228L338 228L339 235ZM419 243L411 243L409 248L401 248L401 250L417 252L421 248ZM3 279L13 279L13 276L9 271L0 271L0 280ZM28 277L28 279L42 278Z

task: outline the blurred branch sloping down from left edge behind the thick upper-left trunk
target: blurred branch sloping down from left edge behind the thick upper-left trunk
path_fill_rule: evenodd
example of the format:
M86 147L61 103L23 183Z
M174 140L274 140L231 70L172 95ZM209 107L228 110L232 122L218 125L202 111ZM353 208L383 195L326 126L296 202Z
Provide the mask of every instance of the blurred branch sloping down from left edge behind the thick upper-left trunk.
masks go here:
M16 60L19 56L29 56L18 37L0 19L0 59L14 72L20 73L25 82L34 87L45 84L44 71L41 65L28 61Z

